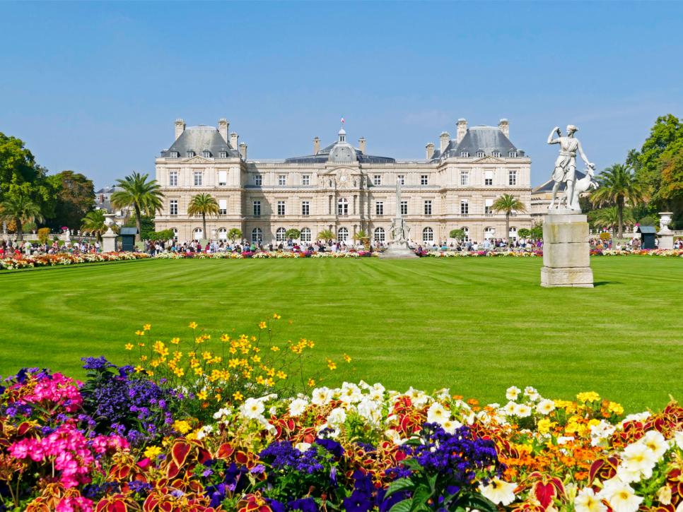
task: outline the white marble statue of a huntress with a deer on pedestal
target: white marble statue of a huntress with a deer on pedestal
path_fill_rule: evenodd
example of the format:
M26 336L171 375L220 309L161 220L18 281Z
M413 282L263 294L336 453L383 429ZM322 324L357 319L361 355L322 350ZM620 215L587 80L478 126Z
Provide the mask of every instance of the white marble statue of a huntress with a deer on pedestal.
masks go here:
M552 131L550 132L550 135L548 136L549 144L560 145L560 154L557 157L557 160L555 160L555 169L553 170L552 175L552 179L555 182L555 184L553 185L552 200L550 201L550 205L548 206L549 210L552 210L553 208L561 208L562 203L564 202L564 206L566 209L578 212L581 211L581 207L578 204L578 196L580 194L580 191L576 186L577 152L580 155L581 159L585 162L585 165L587 167L586 177L588 177L588 181L585 184L585 187L580 188L584 188L583 191L585 191L588 190L588 188L590 188L590 184L592 184L592 186L595 186L595 184L592 182L592 172L595 169L595 165L589 162L588 157L586 157L585 153L583 153L581 143L579 142L578 138L574 136L574 133L576 133L576 131L578 131L578 128L576 128L576 126L574 126L573 124L570 124L567 126L567 136L563 137L560 129L557 126L555 126L554 129L552 129ZM557 133L558 135L557 138L553 138L555 133ZM557 198L557 191L563 183L566 183L566 190L564 194L560 197L559 201L555 203L555 200Z

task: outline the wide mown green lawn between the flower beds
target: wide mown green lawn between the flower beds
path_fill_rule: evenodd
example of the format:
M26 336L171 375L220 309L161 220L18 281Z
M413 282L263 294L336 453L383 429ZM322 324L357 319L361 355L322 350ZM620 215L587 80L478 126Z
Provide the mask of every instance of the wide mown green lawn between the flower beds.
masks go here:
M255 333L278 312L279 338L310 338L328 372L404 390L505 401L510 385L571 398L597 391L627 410L683 398L683 261L591 258L594 289L539 287L541 258L409 261L136 261L0 273L0 374L22 366L82 375L79 358L127 361L155 338ZM285 322L291 319L291 325Z

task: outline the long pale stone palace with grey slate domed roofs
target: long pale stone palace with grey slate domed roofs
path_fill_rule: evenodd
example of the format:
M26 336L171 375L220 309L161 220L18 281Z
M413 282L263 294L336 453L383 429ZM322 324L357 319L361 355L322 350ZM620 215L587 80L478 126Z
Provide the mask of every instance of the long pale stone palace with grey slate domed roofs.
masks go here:
M175 121L175 141L156 159L156 179L165 196L156 230L174 230L180 242L227 239L237 227L254 242L279 242L296 228L303 242L315 241L325 229L351 241L364 230L387 242L390 225L401 209L417 243L448 239L462 229L469 239L506 237L505 215L491 205L513 194L530 210L531 160L510 142L510 125L467 127L459 119L456 137L441 133L438 147L426 145L424 158L398 160L369 155L365 138L358 147L342 127L337 140L321 147L313 139L310 155L283 160L251 160L228 121L218 127L185 126ZM396 204L396 184L401 203ZM209 193L218 202L217 216L189 217L192 196ZM529 213L510 219L510 237L530 227Z

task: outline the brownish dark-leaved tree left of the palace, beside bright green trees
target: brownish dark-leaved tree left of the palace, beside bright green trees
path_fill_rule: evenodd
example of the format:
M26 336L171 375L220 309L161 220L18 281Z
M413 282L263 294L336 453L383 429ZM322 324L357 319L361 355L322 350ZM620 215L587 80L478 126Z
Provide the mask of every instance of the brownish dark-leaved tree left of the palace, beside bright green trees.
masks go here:
M81 224L83 216L95 207L93 181L74 171L62 171L48 177L56 191L54 216L49 218L52 229Z

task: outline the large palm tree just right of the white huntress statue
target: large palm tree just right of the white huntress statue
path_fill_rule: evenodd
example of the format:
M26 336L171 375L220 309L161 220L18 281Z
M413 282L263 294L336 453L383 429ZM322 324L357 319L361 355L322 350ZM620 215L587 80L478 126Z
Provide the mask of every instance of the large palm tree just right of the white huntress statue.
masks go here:
M619 238L624 235L624 206L637 206L648 198L646 186L631 171L631 167L622 164L607 167L597 177L600 186L590 196L597 206L617 206Z

